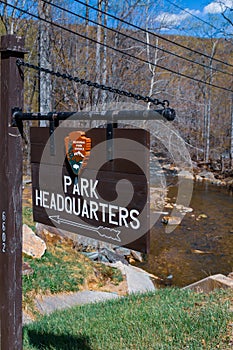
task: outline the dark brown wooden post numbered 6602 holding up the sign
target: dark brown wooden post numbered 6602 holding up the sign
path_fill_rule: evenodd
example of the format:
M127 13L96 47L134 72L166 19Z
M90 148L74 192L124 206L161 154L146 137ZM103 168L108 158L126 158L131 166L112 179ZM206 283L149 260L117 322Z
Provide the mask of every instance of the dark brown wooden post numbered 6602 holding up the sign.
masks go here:
M16 65L23 57L22 38L1 37L1 350L22 349L22 144L18 129L11 127L11 109L23 107L23 79Z

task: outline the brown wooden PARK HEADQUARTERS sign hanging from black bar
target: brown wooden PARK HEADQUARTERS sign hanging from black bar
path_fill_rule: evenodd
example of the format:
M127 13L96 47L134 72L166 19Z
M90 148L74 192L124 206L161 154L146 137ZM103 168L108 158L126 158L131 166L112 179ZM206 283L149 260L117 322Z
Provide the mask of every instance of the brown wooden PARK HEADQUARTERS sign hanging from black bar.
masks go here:
M148 252L149 136L142 129L31 128L34 220Z

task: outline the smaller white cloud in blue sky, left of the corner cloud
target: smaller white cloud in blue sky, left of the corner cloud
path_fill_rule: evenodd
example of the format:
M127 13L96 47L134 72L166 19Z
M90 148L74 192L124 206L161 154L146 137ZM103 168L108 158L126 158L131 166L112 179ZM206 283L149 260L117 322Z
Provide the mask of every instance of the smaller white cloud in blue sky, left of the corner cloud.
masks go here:
M233 0L232 0L233 1ZM199 15L199 10L189 10L185 9L185 11L181 11L180 13L170 13L170 12L162 12L160 13L155 20L163 23L163 25L179 25L182 21L189 18L191 15Z

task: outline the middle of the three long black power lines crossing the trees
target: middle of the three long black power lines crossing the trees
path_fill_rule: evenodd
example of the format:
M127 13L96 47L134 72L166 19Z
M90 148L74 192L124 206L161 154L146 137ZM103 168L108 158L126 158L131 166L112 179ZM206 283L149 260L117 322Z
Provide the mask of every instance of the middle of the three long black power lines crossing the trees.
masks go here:
M55 8L57 8L57 9L59 9L59 10L62 10L62 11L64 11L64 12L66 12L66 13L69 13L69 14L71 14L71 15L73 15L73 16L76 16L76 17L78 17L78 18L81 18L81 19L83 19L83 20L86 20L86 19L87 19L86 17L84 17L84 16L82 16L82 15L79 15L79 14L73 12L73 11L67 10L67 9L65 9L64 7L59 6L59 5L56 5L56 4L54 4L54 3L50 2L50 1L47 1L47 0L42 0L42 1L45 2L46 4L49 4L49 5L55 7ZM120 34L120 35L122 35L122 36L124 36L124 37L126 37L126 38L128 38L128 39L132 39L132 40L134 40L134 41L136 41L136 42L139 42L139 43L141 43L141 44L143 44L143 45L147 45L147 46L149 46L149 47L152 47L153 49L156 48L156 49L158 49L158 50L160 50L160 51L162 51L162 52L164 52L164 53L170 54L170 55L175 56L175 57L177 57L177 58L179 58L179 59L183 59L183 60L185 60L185 61L187 61L187 62L189 62L189 63L197 64L197 65L199 65L199 66L201 66L201 67L203 67L203 68L211 69L211 70L213 70L213 71L216 71L216 72L219 72L219 73L222 73L222 74L226 74L226 75L233 76L232 73L225 72L225 71L223 71L223 70L221 70L221 69L218 69L218 68L215 68L215 67L210 67L210 66L208 66L208 65L206 65L206 64L193 61L193 60L191 60L190 58L180 56L180 55L178 55L178 54L176 54L176 53L174 53L174 52L171 52L171 51L169 51L169 50L163 49L163 48L161 48L161 47L159 47L159 46L152 45L152 44L150 44L150 43L146 43L145 41L143 41L143 40L141 40L141 39L135 38L135 37L133 37L133 36L131 36L131 35L128 35L128 34L126 34L126 33L122 33L122 32L120 32L119 30L110 28L110 27L108 27L108 26L106 26L106 25L104 25L104 24L102 24L102 23L98 23L98 22L96 22L96 21L94 21L94 20L91 20L91 19L88 19L88 21L91 22L91 23L93 23L93 24L99 25L99 26L102 27L102 28L108 29L108 30L110 30L110 31L112 31L112 32L114 32L114 33L116 33L116 34Z

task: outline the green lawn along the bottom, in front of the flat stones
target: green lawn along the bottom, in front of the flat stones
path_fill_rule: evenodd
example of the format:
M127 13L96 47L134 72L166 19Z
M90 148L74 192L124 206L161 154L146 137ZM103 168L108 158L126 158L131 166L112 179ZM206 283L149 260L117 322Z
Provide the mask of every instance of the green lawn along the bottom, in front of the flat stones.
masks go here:
M75 307L26 326L24 349L231 349L229 298L164 289Z

